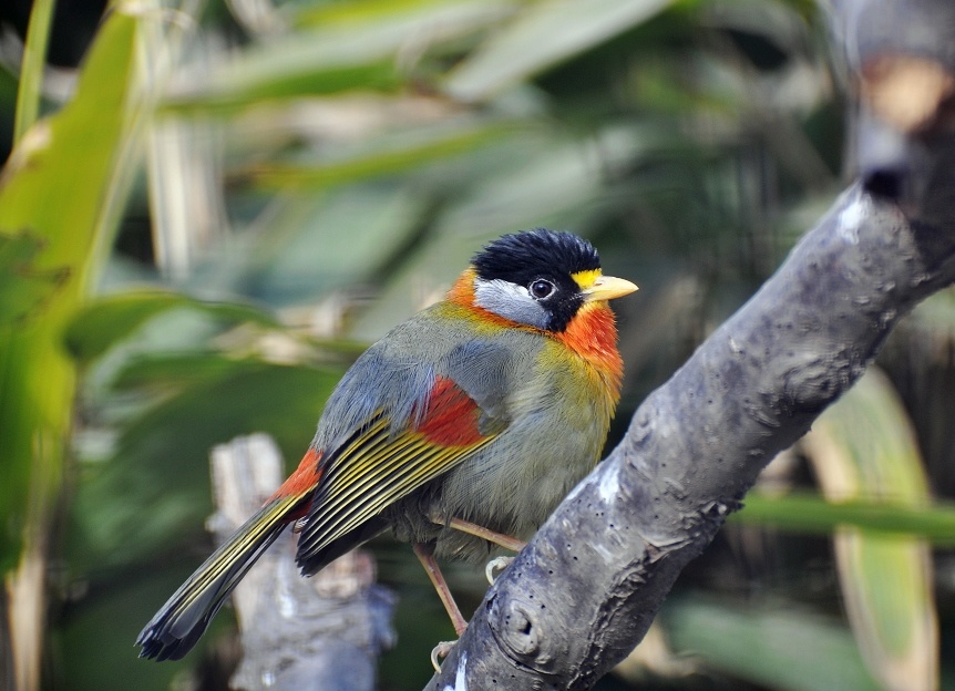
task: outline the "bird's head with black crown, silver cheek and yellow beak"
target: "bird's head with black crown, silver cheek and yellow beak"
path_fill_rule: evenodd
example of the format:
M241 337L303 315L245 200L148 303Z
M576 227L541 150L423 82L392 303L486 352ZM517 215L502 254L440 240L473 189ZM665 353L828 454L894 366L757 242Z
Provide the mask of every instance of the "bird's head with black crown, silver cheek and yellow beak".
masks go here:
M564 332L588 303L636 289L628 280L604 276L597 250L583 238L543 228L486 245L455 287L458 301L555 333Z

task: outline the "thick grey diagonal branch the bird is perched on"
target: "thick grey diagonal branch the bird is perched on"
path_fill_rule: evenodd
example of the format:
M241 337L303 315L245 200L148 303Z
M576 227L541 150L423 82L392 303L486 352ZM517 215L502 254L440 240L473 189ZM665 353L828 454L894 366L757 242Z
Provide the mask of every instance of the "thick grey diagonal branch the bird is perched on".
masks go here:
M591 688L762 467L859 379L903 314L955 280L955 3L846 0L832 19L858 95L858 181L644 402L428 689ZM893 109L898 99L920 112Z

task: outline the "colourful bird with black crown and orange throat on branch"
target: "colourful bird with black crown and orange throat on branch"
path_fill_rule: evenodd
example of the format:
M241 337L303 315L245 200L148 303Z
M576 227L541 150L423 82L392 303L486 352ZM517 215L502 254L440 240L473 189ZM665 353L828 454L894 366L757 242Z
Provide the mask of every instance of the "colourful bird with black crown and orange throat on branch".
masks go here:
M183 658L289 525L304 576L390 528L460 636L435 559L518 549L597 464L623 379L608 300L635 290L571 233L486 244L443 300L359 355L297 470L143 628L140 657Z

